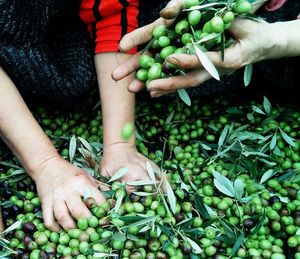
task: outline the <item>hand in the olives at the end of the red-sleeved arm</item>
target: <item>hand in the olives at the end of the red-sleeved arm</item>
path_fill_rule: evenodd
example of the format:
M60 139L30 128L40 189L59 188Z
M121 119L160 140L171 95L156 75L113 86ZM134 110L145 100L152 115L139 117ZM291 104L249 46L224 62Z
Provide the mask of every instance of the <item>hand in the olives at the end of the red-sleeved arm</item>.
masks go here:
M141 155L136 147L129 143L117 143L104 148L103 159L100 163L101 174L105 177L112 177L120 168L127 167L128 172L121 181L141 181L148 180L146 162L150 162L153 169L158 170L158 166L148 158ZM133 188L127 188L129 192Z

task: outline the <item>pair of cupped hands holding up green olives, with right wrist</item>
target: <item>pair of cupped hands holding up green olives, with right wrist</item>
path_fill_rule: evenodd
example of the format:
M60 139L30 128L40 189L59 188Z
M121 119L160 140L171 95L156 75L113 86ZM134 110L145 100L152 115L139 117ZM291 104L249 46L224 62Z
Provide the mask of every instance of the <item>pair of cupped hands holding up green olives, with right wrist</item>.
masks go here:
M133 47L143 44L151 39L154 27L159 24L170 25L181 11L183 0L172 0L161 11L161 18L127 34L120 42L120 48L126 52ZM255 5L253 11L261 6ZM225 60L221 60L219 52L206 52L220 74L226 74L244 67L250 63L263 60L278 59L282 57L294 57L300 55L300 20L267 23L265 21L253 21L249 19L237 19L230 29L236 43L225 50ZM140 54L136 54L128 62L121 64L114 70L112 77L120 80L124 76L137 70ZM172 93L180 88L199 86L211 79L211 75L203 68L197 56L187 54L174 54L167 58L169 63L178 67L190 69L184 76L175 76L167 79L153 80L147 89L152 97L160 97ZM135 93L144 89L145 85L133 80L129 91Z

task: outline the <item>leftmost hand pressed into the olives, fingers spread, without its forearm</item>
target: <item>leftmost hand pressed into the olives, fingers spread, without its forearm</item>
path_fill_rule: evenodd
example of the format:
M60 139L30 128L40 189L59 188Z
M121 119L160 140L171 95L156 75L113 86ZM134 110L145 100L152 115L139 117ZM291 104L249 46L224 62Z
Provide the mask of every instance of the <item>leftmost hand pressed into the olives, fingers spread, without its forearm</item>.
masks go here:
M66 230L75 228L74 218L91 215L82 201L86 190L98 204L105 200L96 179L60 157L46 161L35 175L45 226L52 231L58 231L59 225Z

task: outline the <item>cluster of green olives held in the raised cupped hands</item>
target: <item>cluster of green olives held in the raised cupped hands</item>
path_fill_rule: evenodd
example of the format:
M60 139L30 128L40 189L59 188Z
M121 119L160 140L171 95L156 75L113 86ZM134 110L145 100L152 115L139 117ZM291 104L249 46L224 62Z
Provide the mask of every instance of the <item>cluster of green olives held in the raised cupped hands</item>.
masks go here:
M247 0L200 1L186 0L186 8L170 27L159 25L153 29L149 52L140 57L136 78L148 85L152 80L184 74L186 71L168 63L172 54L195 54L195 48L224 50L225 31L236 16L245 16L252 5Z

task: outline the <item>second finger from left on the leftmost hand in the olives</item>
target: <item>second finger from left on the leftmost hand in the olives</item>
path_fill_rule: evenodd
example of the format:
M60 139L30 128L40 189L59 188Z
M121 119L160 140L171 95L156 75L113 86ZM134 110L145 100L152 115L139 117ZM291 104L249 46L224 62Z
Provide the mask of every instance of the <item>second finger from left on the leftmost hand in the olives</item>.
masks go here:
M72 197L74 198L74 197ZM53 207L54 216L57 222L65 229L69 230L71 228L75 228L76 224L71 217L68 207L64 200L60 200L54 204Z

